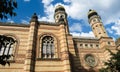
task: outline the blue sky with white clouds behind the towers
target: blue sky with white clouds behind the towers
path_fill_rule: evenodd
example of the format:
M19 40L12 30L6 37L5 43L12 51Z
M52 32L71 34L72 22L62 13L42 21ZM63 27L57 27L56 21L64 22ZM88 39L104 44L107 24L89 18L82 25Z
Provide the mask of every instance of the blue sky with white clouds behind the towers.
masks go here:
M54 22L55 6L60 4L66 9L73 36L94 37L87 19L89 9L94 9L101 16L108 35L114 40L120 37L120 0L17 0L17 3L17 16L2 22L29 24L33 13L37 13L39 21Z

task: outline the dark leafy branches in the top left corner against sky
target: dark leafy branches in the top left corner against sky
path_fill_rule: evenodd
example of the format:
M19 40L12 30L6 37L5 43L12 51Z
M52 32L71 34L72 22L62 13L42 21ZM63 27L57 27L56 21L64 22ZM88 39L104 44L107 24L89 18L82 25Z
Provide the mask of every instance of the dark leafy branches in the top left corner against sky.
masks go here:
M7 19L8 15L16 16L16 13L13 11L17 8L16 0L0 0L0 19Z

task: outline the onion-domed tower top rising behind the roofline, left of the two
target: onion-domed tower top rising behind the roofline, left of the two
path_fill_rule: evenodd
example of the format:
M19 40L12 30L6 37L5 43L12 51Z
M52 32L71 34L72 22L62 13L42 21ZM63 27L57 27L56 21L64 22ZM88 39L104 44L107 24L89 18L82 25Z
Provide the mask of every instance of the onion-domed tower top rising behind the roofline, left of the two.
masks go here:
M67 21L67 13L63 6L61 5L56 6L54 19L55 19L55 23L65 25L66 33L68 34L69 28L68 28L68 21Z

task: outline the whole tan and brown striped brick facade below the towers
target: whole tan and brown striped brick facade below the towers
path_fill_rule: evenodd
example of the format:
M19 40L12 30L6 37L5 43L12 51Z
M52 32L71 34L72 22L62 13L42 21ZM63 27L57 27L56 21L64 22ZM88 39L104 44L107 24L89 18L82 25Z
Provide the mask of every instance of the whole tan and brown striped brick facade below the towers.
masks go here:
M0 65L0 72L98 72L109 58L106 48L116 49L113 39L106 34L98 38L73 37L66 21L42 22L35 15L28 25L0 23L0 34L17 40L13 62ZM42 58L45 36L54 39L53 58ZM93 65L89 64L91 56Z

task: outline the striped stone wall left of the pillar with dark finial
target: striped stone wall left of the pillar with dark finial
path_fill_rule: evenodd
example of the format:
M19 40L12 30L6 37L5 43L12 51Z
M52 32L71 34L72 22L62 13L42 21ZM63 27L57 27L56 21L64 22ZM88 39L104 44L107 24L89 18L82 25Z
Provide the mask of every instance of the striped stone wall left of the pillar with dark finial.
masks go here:
M10 62L10 66L0 65L0 72L21 72L24 68L25 53L28 44L28 25L6 25L0 24L0 35L14 37L16 42L14 58Z

